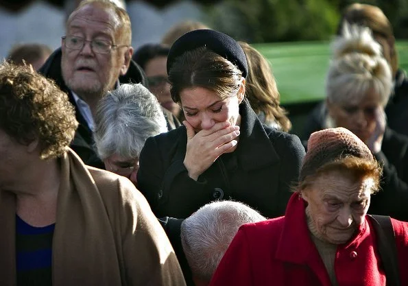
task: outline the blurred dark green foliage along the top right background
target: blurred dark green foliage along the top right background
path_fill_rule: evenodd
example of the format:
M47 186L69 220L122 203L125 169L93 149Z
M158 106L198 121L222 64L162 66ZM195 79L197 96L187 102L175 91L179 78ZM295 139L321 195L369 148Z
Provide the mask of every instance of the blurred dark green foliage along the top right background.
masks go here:
M356 2L379 6L396 38L408 38L407 0L224 0L204 9L214 29L249 43L272 43L328 40L341 11Z

